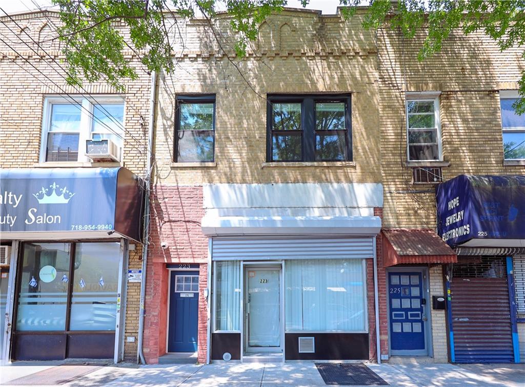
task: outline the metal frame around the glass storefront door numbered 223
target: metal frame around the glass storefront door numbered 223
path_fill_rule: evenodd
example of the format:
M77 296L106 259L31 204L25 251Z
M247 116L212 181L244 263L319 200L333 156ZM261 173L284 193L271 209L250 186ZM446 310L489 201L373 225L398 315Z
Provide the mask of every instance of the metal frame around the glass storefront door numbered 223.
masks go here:
M280 320L280 340L279 340L279 347L268 347L271 349L265 349L265 347L261 347L261 349L257 351L248 351L248 328L247 328L247 316L246 316L246 296L248 294L248 270L250 268L256 267L258 269L278 269L279 270L279 320ZM284 306L285 306L285 293L284 293L284 263L282 261L266 261L266 262L242 262L241 263L241 271L243 273L243 294L242 296L242 308L241 308L241 319L242 319L242 325L241 325L241 361L242 356L245 353L249 352L276 352L280 351L282 353L282 359L284 361L284 353L285 353L285 313L284 313Z

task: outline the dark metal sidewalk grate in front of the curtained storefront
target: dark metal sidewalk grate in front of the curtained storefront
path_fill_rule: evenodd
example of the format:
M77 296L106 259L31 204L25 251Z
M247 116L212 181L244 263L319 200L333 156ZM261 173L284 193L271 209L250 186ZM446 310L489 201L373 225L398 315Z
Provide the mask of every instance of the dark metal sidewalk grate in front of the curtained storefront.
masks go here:
M388 385L362 363L316 363L327 385Z

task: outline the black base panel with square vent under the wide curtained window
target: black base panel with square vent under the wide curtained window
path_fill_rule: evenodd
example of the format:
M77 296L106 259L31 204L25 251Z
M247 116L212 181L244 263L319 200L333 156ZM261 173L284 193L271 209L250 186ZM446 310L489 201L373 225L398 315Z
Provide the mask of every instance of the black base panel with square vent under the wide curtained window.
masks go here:
M313 337L314 353L299 353L299 338ZM285 360L368 360L368 333L286 333Z

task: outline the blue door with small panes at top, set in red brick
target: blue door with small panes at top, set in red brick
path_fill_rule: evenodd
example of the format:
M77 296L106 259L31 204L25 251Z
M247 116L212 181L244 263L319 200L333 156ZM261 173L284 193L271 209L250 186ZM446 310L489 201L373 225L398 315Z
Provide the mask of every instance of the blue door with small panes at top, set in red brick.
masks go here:
M198 271L172 271L168 352L195 352L198 332Z

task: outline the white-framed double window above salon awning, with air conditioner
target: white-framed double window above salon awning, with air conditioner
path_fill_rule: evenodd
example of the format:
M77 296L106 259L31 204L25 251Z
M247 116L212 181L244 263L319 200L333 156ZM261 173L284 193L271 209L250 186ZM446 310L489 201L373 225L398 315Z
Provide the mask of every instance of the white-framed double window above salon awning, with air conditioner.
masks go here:
M124 145L124 101L121 97L47 97L40 162L86 162L86 140L110 139Z

